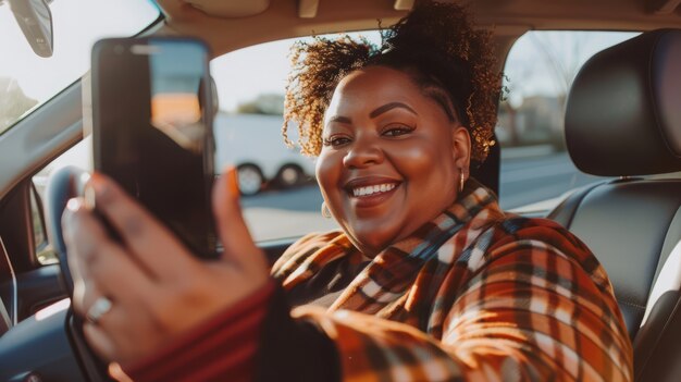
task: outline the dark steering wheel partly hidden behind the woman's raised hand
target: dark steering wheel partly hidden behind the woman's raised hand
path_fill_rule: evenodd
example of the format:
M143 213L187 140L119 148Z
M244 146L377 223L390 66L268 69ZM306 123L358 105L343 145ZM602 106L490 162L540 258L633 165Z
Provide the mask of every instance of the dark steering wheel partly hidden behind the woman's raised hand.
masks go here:
M84 195L85 183L89 180L89 173L85 170L66 167L50 174L45 190L45 214L48 239L58 254L61 269L61 281L73 297L73 279L69 270L67 250L62 233L61 217L66 208L66 202L73 197ZM107 365L99 359L85 341L83 334L83 320L74 315L73 307L66 315L65 330L73 346L73 352L83 366L86 380L99 382L111 381L107 371Z

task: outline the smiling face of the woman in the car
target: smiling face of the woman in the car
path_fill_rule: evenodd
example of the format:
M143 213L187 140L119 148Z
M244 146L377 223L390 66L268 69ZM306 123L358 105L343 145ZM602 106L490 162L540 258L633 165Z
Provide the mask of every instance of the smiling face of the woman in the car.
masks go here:
M411 77L369 66L343 78L324 116L317 178L352 243L374 256L449 207L470 138Z

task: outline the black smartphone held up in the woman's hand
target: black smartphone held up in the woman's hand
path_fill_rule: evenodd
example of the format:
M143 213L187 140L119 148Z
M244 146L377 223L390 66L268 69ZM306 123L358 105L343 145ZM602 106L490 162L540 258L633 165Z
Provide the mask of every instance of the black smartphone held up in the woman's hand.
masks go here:
M213 102L194 38L103 39L92 48L95 170L136 197L197 256L215 258Z

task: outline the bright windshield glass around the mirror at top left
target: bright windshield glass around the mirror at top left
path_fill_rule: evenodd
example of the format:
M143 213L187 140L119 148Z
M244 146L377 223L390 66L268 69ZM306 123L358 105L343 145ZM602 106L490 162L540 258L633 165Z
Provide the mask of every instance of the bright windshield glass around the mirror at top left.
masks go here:
M144 0L54 0L50 11L54 51L46 59L0 0L0 134L85 74L95 41L135 35L159 16Z

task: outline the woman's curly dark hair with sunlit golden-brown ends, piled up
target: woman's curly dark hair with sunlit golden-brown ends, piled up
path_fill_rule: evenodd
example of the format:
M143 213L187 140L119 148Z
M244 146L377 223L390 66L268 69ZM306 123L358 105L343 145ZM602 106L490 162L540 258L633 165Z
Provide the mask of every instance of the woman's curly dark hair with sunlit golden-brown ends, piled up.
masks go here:
M472 136L471 159L485 160L493 140L502 73L495 72L492 34L474 29L468 12L455 3L419 1L397 24L381 32L377 47L366 39L314 37L292 48L286 86L283 135L298 125L301 152L318 156L322 148L324 112L343 77L369 65L408 73L424 94L435 99L451 121Z

